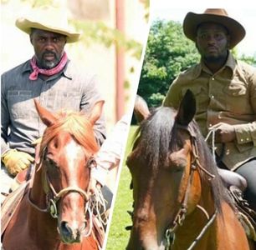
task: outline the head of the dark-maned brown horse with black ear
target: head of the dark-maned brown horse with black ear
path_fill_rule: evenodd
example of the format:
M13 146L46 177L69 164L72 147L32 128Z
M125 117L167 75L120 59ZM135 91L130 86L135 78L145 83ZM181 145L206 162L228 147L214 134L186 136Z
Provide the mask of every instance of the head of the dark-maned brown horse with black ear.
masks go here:
M127 158L134 198L127 249L165 249L166 230L180 223L200 198L199 175L189 179L194 158L189 126L195 112L195 98L189 91L177 111L160 107L150 116L148 109L141 112L146 120L141 122L139 137Z

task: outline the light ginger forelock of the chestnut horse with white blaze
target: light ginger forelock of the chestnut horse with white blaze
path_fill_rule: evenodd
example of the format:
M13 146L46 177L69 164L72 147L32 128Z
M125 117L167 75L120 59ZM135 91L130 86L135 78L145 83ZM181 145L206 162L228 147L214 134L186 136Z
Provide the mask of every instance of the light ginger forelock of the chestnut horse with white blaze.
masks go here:
M44 131L40 152L61 132L71 134L74 140L90 153L96 153L99 150L93 125L83 113L62 110L55 116L57 117L57 122L54 122L52 126Z

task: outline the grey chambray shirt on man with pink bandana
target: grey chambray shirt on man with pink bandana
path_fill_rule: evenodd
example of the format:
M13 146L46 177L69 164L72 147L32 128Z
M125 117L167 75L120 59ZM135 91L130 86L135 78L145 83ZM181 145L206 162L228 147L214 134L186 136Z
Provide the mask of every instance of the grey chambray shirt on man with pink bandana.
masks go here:
M38 117L33 98L51 112L65 108L89 112L95 102L102 100L95 76L79 72L68 62L62 72L43 80L29 80L30 62L24 62L2 75L1 85L1 150L9 148L34 154L31 143L40 138L45 129ZM95 123L98 143L105 139L105 118Z

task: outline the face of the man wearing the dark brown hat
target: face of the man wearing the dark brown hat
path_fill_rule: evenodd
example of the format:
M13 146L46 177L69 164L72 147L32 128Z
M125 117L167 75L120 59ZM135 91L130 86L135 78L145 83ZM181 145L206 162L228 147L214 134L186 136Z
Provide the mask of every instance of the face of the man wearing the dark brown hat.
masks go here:
M217 23L202 23L197 28L196 46L207 62L218 62L227 57L229 36L226 28Z

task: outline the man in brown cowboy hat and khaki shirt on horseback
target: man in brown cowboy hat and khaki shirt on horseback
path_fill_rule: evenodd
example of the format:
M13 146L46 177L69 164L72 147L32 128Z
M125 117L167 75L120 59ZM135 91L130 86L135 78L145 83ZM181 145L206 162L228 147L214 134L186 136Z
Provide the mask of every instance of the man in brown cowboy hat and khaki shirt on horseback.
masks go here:
M256 210L256 70L230 52L245 30L216 8L187 13L183 31L195 42L201 62L172 82L163 104L177 108L187 89L193 92L202 134L214 130L217 154L223 155L219 167L247 179L245 198Z

